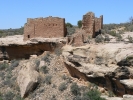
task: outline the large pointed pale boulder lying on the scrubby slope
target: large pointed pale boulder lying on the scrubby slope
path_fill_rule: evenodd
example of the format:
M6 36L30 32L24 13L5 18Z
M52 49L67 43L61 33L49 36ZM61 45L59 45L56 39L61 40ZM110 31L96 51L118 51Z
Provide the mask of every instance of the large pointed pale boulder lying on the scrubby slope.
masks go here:
M22 65L17 77L17 83L20 87L21 97L26 97L29 92L33 91L39 80L39 73L32 62Z

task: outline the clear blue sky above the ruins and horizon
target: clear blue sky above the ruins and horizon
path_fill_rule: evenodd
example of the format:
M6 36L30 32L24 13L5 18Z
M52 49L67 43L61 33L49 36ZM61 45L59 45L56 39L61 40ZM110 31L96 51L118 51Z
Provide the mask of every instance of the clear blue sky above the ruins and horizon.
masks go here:
M103 15L104 24L127 22L133 16L133 0L1 0L0 29L20 28L27 18L48 16L76 25L89 11Z

